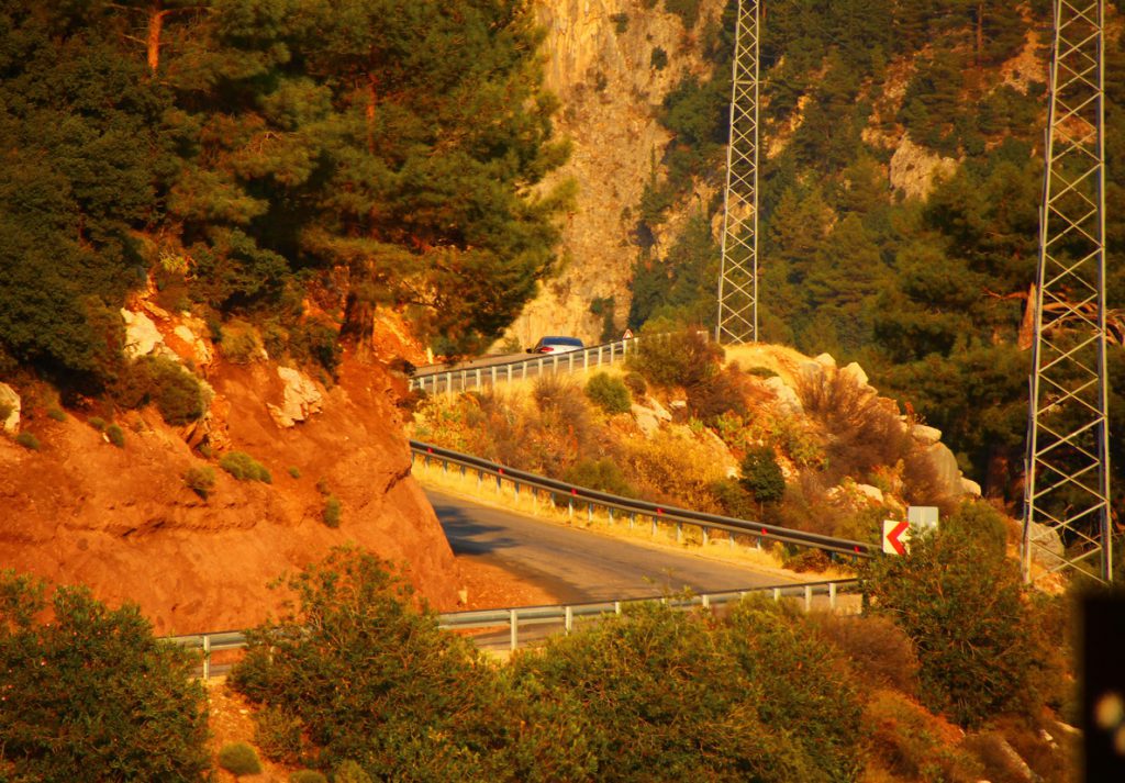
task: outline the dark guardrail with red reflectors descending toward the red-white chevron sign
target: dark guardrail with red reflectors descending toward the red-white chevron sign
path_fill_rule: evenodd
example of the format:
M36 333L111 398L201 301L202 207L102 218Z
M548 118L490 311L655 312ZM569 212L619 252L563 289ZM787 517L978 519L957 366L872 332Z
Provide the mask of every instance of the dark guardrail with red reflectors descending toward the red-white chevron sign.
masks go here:
M567 498L567 508L572 515L574 514L575 504L584 504L588 519L593 518L593 510L600 507L605 510L611 523L615 514L620 513L628 516L630 525L636 524L637 518L651 520L654 532L660 523L675 524L677 540L683 539L683 525L690 524L700 528L704 544L708 543L712 530L722 530L731 534L731 546L735 543L735 536L747 536L754 538L758 543L763 541L780 541L781 543L792 546L820 549L832 557L847 556L858 558L872 557L876 554L873 544L863 541L838 539L830 536L820 536L819 533L778 528L752 520L739 520L732 516L721 516L719 514L709 514L701 511L691 511L688 508L649 503L648 501L621 497L619 495L611 495L608 492L588 489L554 478L516 470L515 468L480 459L479 457L462 454L451 449L433 446L432 443L414 440L410 443L412 459L421 457L426 461L436 460L443 464L446 470L449 469L450 465L460 466L462 471L471 468L477 471L478 484L484 482L485 476L490 476L496 482L497 492L503 482L511 482L518 501L521 487L532 490L532 504L538 503L539 492L548 493L551 502L555 502L555 498L558 496L564 496Z

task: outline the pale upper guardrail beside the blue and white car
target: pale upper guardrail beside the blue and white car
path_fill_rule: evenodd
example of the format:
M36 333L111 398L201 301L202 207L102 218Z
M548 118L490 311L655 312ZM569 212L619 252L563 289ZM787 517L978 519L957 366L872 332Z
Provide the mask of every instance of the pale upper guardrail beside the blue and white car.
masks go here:
M640 339L616 340L601 345L591 345L580 351L536 354L530 359L489 364L487 367L462 367L450 369L420 369L410 379L410 389L420 389L430 394L465 392L483 388L486 384L496 385L500 381L523 380L557 372L577 372L592 367L613 364L623 361L626 356L636 350Z

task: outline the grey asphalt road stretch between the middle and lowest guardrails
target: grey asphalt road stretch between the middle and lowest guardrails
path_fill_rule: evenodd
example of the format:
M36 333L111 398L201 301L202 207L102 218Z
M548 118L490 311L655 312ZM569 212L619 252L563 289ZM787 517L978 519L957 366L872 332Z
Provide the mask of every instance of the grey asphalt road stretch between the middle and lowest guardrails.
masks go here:
M649 547L425 489L450 546L550 590L564 603L795 582L776 570Z

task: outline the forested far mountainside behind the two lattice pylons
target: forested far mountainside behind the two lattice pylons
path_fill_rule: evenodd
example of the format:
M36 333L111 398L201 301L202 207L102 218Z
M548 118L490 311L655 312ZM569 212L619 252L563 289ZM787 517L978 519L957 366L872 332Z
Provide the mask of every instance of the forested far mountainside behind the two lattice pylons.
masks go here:
M636 213L634 330L716 322L735 3L710 27L699 6L664 3L709 42L713 68L659 108L673 140ZM1114 258L1125 242L1125 47L1116 3L1107 15ZM1051 4L788 0L768 3L762 25L763 338L860 361L944 433L987 494L1018 502ZM1107 273L1109 306L1120 307L1125 270ZM1109 372L1119 431L1119 343ZM1110 447L1118 483L1120 443Z

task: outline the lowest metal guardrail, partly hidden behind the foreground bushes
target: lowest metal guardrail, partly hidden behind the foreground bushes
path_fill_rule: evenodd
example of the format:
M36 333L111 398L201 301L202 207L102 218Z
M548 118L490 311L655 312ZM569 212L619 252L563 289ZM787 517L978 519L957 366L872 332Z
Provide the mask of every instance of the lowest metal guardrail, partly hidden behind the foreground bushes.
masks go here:
M591 622L606 615L618 615L630 604L659 601L674 609L688 610L693 608L714 609L728 603L737 603L752 593L766 593L774 601L783 597L802 600L804 610L810 611L816 596L825 596L830 610L837 609L837 597L842 593L854 590L858 579L835 579L828 582L786 583L742 590L705 593L688 597L648 596L641 598L623 598L619 601L600 601L557 606L516 606L511 609L486 609L469 612L448 612L438 615L438 627L452 631L485 631L500 629L506 637L506 649L516 650L526 641L541 639L550 632L569 633L580 621ZM521 636L521 629L529 627L547 628L547 634L537 634L533 639ZM230 665L215 666L212 656L225 650L242 649L246 646L246 637L242 631L219 631L215 633L195 633L188 636L164 637L163 641L177 645L187 650L196 650L202 658L200 676L208 680L225 673ZM490 648L487 638L475 639L478 646ZM482 644L483 642L483 644Z

